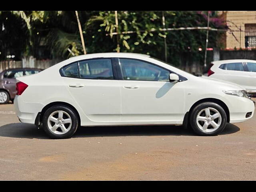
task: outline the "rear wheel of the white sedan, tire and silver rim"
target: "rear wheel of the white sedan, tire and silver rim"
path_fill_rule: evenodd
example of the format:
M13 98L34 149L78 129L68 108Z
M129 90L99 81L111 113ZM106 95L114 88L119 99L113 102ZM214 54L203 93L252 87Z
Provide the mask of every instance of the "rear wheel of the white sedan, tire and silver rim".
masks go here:
M54 139L70 138L78 127L76 112L67 106L52 106L43 115L43 128Z

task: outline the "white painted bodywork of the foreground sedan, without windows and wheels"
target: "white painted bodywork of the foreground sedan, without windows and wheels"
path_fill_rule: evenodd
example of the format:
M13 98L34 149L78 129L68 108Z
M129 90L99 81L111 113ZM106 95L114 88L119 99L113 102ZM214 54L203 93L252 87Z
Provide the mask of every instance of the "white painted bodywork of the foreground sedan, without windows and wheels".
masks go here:
M63 77L60 69L91 58L133 58L166 68L186 78L182 82L102 80ZM183 124L185 114L202 100L218 100L228 109L228 122L250 119L254 102L225 94L243 90L237 84L196 77L150 56L132 53L99 53L75 56L31 76L17 78L28 88L17 95L14 106L21 122L35 124L38 113L51 104L73 106L81 126ZM252 115L246 118L246 113Z

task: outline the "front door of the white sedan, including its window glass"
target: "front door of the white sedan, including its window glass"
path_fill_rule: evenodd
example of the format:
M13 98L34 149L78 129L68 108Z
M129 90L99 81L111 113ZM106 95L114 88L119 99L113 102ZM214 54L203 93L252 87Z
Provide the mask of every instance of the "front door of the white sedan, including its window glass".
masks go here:
M184 89L170 82L170 71L155 64L119 58L121 85L121 121L136 124L170 124L184 117Z

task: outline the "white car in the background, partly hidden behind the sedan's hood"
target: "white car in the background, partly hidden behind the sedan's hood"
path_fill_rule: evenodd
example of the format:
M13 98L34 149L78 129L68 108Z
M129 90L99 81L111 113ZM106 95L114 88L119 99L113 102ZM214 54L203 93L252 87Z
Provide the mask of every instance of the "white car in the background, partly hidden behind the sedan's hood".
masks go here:
M208 76L239 84L251 96L256 96L256 60L214 61L208 70Z

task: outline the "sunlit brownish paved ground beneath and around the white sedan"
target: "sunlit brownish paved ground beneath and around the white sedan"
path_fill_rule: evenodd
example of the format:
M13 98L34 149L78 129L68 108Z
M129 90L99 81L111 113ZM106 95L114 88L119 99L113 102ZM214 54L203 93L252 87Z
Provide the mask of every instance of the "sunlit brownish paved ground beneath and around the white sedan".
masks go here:
M255 124L213 137L181 126L84 127L53 140L0 105L0 180L256 180Z

